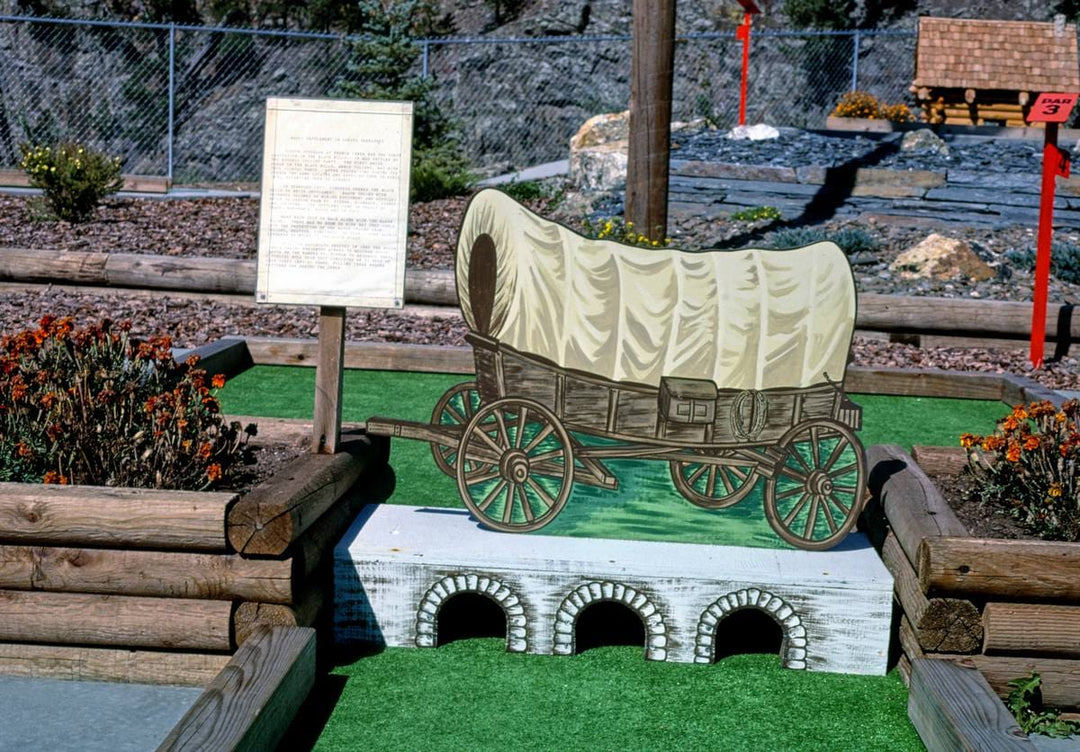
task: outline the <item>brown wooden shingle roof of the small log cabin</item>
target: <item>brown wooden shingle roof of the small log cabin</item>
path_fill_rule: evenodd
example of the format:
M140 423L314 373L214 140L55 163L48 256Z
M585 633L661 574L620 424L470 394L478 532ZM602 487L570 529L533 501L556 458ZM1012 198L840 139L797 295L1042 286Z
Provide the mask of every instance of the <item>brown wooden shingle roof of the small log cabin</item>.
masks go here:
M923 16L915 85L1080 92L1077 27L1055 33L1054 24Z

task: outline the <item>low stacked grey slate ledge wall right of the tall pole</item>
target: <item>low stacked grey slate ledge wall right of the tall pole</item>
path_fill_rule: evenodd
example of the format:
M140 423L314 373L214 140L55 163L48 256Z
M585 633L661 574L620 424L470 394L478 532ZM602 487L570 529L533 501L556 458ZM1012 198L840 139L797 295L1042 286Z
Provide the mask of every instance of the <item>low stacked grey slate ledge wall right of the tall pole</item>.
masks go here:
M775 206L787 220L875 214L1035 226L1040 188L1040 176L1028 174L672 161L670 205L673 215L710 218ZM1080 178L1058 178L1054 225L1080 228Z

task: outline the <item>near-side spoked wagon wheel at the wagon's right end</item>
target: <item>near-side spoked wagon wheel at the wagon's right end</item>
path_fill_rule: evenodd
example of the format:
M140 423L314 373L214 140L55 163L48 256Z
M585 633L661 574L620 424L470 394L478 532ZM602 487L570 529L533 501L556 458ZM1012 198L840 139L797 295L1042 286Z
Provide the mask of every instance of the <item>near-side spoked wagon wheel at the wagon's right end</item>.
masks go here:
M832 548L848 535L862 508L862 445L847 426L818 418L787 431L778 448L782 458L765 486L769 524L793 546Z

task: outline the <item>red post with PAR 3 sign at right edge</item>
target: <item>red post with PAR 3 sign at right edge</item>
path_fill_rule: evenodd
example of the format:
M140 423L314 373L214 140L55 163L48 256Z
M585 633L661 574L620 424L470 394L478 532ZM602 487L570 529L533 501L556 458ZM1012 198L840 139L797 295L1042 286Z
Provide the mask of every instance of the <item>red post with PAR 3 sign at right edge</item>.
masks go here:
M1076 94L1040 94L1028 116L1045 123L1042 146L1042 197L1039 203L1038 255L1035 263L1035 303L1031 309L1031 365L1042 367L1047 339L1047 297L1050 287L1050 245L1054 232L1054 188L1058 175L1069 176L1069 156L1057 147L1057 127L1069 119Z

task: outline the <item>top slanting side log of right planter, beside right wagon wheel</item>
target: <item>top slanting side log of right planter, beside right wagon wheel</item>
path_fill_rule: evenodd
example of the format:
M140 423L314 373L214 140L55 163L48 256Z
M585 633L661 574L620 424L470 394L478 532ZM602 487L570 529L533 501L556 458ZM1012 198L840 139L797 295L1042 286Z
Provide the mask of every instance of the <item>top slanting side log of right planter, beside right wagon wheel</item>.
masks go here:
M923 538L968 534L937 487L904 449L894 444L872 446L866 451L866 462L870 494L913 566L919 561Z

